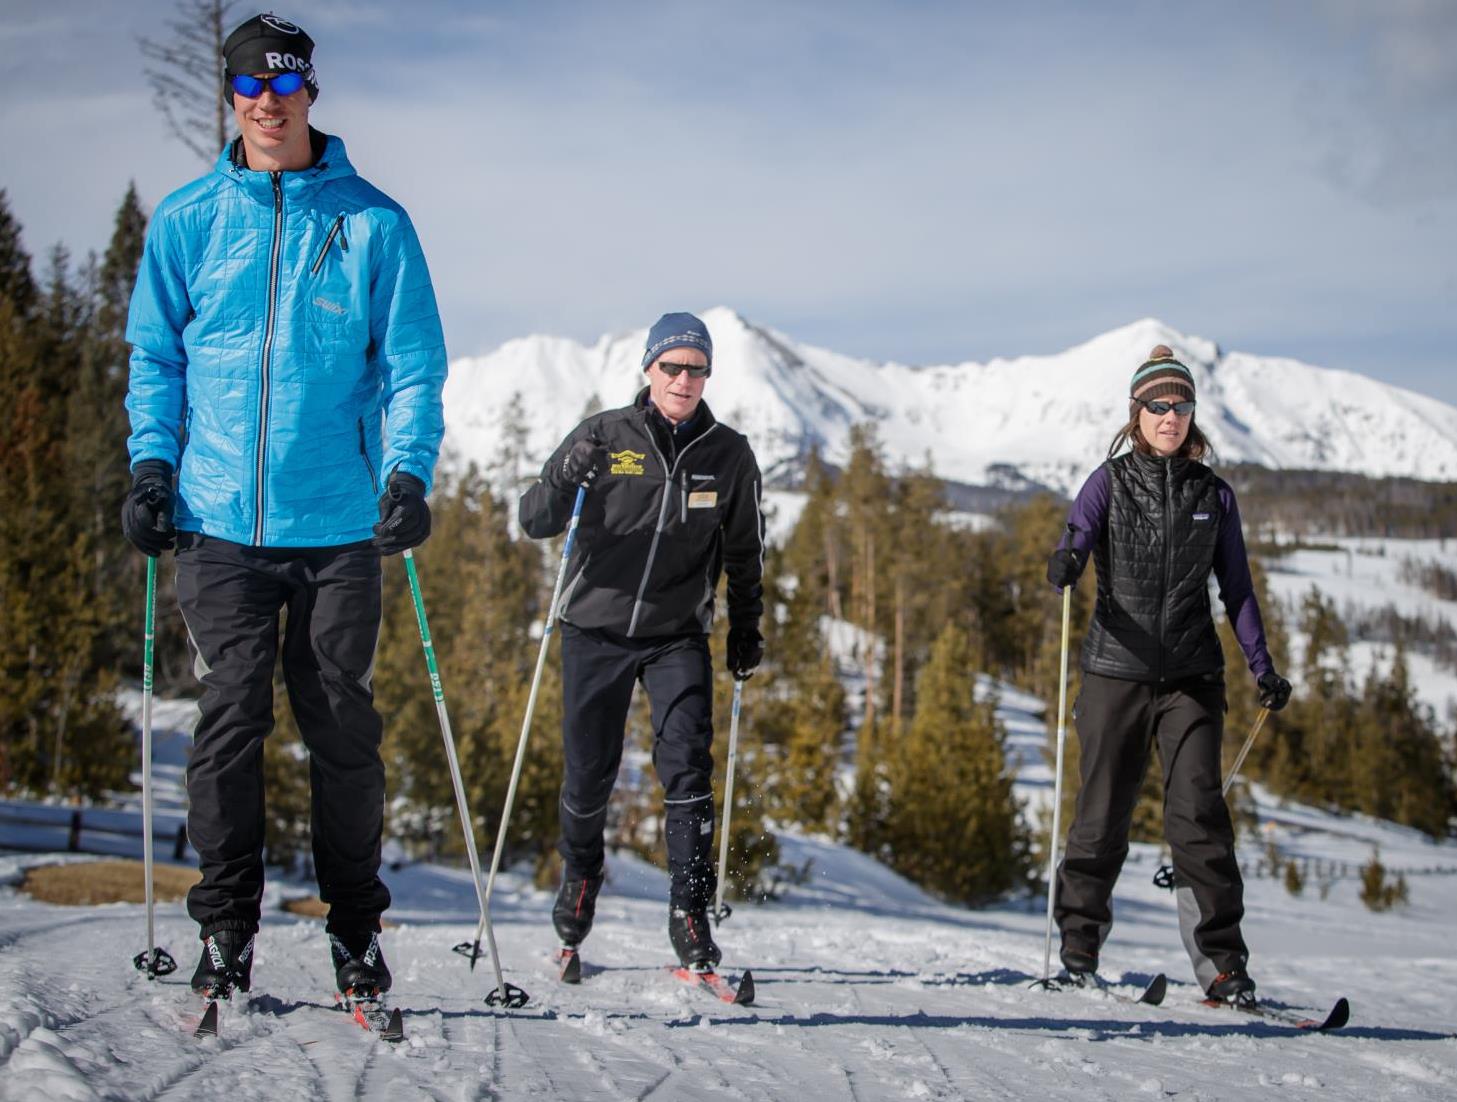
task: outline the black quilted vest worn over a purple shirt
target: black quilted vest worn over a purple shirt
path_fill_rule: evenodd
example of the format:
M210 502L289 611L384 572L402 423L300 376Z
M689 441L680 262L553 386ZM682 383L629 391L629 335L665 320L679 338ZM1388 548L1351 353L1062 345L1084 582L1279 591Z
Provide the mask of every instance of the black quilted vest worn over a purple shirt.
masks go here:
M1097 603L1083 669L1152 682L1222 671L1209 614L1222 519L1214 471L1138 452L1104 466L1107 526L1093 547Z

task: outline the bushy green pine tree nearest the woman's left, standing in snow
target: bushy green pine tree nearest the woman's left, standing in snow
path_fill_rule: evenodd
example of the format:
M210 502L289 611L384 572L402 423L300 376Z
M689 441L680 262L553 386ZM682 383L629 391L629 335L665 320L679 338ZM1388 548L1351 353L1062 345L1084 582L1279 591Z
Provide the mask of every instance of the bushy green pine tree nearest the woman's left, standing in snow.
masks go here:
M947 625L916 687L909 735L889 768L886 834L895 869L941 895L981 904L1017 886L1029 845L1005 735L978 703L966 634Z

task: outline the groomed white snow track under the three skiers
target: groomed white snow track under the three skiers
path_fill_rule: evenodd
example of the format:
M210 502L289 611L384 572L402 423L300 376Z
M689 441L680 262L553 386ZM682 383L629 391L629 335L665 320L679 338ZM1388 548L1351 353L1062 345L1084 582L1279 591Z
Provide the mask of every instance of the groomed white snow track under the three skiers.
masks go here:
M1104 969L1131 985L1171 978L1163 1007L1088 991L1042 993L1036 907L943 907L873 861L816 840L809 883L769 907L740 907L718 930L724 971L750 966L752 1007L726 1006L666 971L666 883L631 859L586 943L583 982L551 962L549 896L517 876L497 894L508 977L527 1007L481 999L450 952L469 936L469 876L411 867L395 892L385 950L407 1039L386 1045L332 1007L318 923L271 914L246 1003L224 1004L220 1038L197 1041L186 990L195 929L162 908L160 942L179 969L147 984L130 958L140 907L52 908L0 894L0 1099L1438 1099L1457 1093L1457 964L1442 946L1451 880L1423 880L1405 917L1370 915L1354 885L1326 902L1250 885L1247 931L1262 993L1323 1009L1351 997L1333 1035L1198 1006L1171 901L1147 885L1138 850L1120 883ZM0 859L15 867L16 859ZM1432 895L1438 892L1440 898ZM1336 892L1351 899L1336 899ZM1335 927L1343 927L1336 936ZM1365 946L1365 950L1348 943Z

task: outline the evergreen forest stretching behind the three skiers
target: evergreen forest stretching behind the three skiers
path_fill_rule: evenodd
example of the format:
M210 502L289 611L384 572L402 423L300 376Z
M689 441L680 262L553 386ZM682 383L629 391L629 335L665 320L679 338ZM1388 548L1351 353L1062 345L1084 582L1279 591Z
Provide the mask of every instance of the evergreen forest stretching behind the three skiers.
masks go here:
M55 248L36 264L0 192L0 373L12 404L0 423L0 794L108 802L131 789L137 740L117 694L140 682L146 570L121 536L118 510L130 487L124 331L144 230L146 214L128 189L103 255L77 261ZM522 423L520 411L503 410L503 426ZM520 436L503 429L488 469L443 461L431 499L434 531L415 554L474 828L487 853L559 555L559 544L529 541L514 523L517 472L535 471L541 458L525 455ZM1236 468L1230 478L1256 550L1282 526L1304 531L1316 496L1327 519L1338 516L1338 534L1457 531L1453 485L1253 468ZM870 426L855 430L842 468L810 456L798 488L803 509L766 560L766 657L745 691L731 894L769 896L806 875L781 863L775 831L784 828L844 840L969 905L1036 889L1049 824L1033 821L1014 796L995 687L1049 703L1050 746L1061 598L1045 566L1067 501L1030 496L969 519L949 507L949 487L930 462L893 469ZM169 567L163 557L157 689L192 695ZM1450 576L1418 580L1450 596ZM1444 636L1437 625L1400 620L1351 624L1314 592L1298 608L1281 608L1265 596L1257 561L1256 583L1276 665L1303 688L1269 720L1244 775L1303 802L1394 819L1432 837L1451 834L1454 717L1419 704L1405 660L1410 647L1457 653L1450 628ZM386 723L388 831L411 859L463 860L398 557L386 560L385 593L374 684ZM1072 595L1074 637L1091 599L1088 573ZM721 621L712 643L720 669ZM1308 640L1298 671L1289 668L1291 633ZM1221 634L1228 762L1257 703L1222 620ZM1358 636L1390 641L1390 669L1354 672ZM1075 656L1071 665L1069 700ZM510 825L508 860L535 861L542 882L555 876L557 669L552 656ZM717 685L721 774L731 682L723 675ZM277 729L265 746L268 847L272 863L290 864L307 854L307 770L281 682L275 698ZM634 710L628 739L609 841L660 861L661 802L645 711ZM1075 748L1069 736L1068 810ZM1160 837L1157 774L1150 770L1135 819L1144 840Z

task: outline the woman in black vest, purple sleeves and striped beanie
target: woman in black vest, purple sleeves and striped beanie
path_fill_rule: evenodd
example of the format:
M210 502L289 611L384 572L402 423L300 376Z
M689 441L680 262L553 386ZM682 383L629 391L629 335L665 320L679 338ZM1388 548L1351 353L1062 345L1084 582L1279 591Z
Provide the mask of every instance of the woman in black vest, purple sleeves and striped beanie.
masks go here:
M1265 646L1234 491L1201 459L1193 375L1160 344L1134 372L1129 420L1109 459L1078 491L1048 580L1077 583L1097 563L1097 602L1083 641L1074 706L1083 789L1058 872L1062 965L1097 971L1113 923L1113 882L1150 746L1164 771L1164 835L1173 850L1179 926L1211 999L1250 999L1254 981L1240 934L1244 883L1221 792L1224 654L1209 609L1220 585L1260 704L1278 711L1289 682Z

